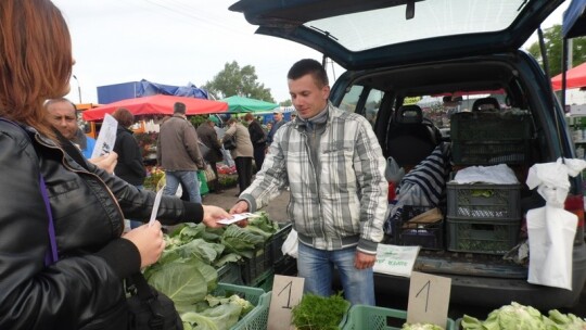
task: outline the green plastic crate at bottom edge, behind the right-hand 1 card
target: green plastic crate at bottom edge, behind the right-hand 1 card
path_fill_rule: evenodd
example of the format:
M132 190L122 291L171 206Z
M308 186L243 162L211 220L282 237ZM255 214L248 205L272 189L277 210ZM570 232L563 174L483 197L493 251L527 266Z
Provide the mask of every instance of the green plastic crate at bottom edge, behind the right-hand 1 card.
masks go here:
M346 323L342 330L400 330L406 321L406 310L354 305L348 312ZM448 318L446 323L446 330L456 330L453 319Z

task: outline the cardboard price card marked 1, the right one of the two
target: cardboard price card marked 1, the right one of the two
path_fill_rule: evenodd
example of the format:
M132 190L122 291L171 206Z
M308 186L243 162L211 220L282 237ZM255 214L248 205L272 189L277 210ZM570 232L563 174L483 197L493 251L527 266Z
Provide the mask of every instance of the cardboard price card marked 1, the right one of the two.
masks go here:
M451 279L423 272L411 272L407 322L434 323L447 329Z

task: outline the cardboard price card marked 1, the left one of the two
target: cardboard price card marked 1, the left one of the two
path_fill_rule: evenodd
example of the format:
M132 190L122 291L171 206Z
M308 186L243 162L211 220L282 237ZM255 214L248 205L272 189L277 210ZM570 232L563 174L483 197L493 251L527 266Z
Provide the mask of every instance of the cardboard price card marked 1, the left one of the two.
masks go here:
M267 329L294 329L293 326L291 326L291 310L300 304L303 297L304 284L305 279L302 277L275 276L275 279L272 280L272 295L270 296Z

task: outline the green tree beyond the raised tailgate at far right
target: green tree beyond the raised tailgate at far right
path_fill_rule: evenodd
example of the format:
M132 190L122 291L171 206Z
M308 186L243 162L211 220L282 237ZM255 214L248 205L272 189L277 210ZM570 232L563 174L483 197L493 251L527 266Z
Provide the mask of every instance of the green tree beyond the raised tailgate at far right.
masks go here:
M562 71L562 36L561 25L557 24L544 30L544 41L549 60L550 75L553 77ZM573 56L572 67L586 62L586 37L572 39ZM539 62L543 67L542 51L539 41L533 42L527 51Z

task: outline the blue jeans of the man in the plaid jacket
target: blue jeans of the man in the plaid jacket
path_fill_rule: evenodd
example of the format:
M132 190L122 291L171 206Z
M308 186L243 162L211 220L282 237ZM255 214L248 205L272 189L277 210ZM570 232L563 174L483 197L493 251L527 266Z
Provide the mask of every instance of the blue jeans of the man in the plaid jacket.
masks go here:
M374 278L372 268L356 269L354 258L356 248L336 251L317 250L298 244L297 270L305 278L305 292L332 295L334 265L340 274L344 296L351 304L374 306Z

